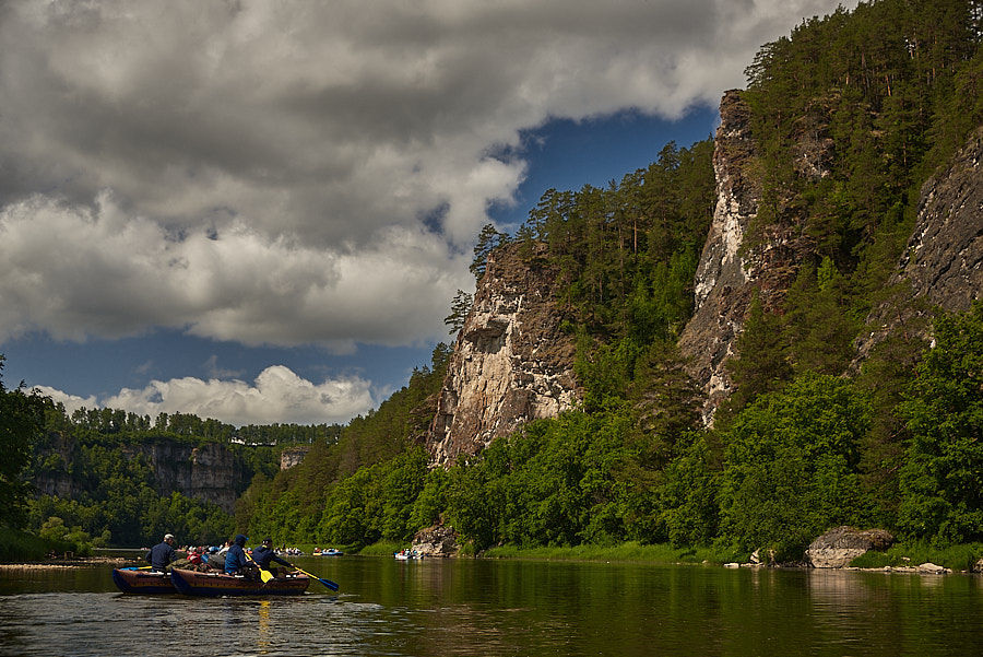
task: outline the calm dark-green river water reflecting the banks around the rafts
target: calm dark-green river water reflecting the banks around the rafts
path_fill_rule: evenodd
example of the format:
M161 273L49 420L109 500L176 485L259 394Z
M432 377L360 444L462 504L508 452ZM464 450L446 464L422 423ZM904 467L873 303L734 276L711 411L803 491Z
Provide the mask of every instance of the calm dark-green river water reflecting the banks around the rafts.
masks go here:
M107 566L0 571L0 655L983 655L976 575L300 558L285 598L126 596Z

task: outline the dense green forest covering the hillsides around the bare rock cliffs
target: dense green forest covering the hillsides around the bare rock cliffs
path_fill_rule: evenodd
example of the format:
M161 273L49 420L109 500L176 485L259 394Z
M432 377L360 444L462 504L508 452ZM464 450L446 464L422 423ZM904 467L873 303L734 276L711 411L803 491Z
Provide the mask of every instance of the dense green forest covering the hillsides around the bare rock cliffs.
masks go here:
M32 500L19 489L14 517L35 531L58 519L93 537L108 531L108 542L159 533L164 521L203 540L235 530L347 547L407 541L442 521L475 552L638 541L796 559L844 524L934 545L983 541L983 304L926 314L934 348L892 336L844 376L868 312L899 292L885 282L920 186L983 126L981 15L983 2L967 0L861 3L803 22L750 62L744 97L762 202L749 243L791 232L810 248L780 307L753 302L729 366L735 391L712 429L676 340L716 200L713 143L670 143L607 188L546 191L514 235L486 226L478 236L476 277L494 249L555 272L555 303L578 343L577 410L428 468L417 438L434 414L446 344L344 427L234 430L186 415L151 425L115 411L69 418L48 404L34 454L56 432L76 436L105 496ZM454 300L452 330L470 298ZM114 449L154 432L268 443L240 446L253 462L235 517L151 495L143 466L118 462ZM292 444L310 451L280 471L272 455ZM106 511L119 498L135 503Z

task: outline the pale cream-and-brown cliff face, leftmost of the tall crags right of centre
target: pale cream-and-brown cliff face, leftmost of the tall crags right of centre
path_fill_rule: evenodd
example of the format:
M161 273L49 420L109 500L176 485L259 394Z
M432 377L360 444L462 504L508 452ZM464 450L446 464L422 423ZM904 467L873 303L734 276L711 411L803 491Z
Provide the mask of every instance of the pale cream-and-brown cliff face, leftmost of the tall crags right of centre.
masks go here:
M541 257L524 259L516 245L489 257L424 439L436 464L554 418L578 399L575 344L560 331L553 280Z

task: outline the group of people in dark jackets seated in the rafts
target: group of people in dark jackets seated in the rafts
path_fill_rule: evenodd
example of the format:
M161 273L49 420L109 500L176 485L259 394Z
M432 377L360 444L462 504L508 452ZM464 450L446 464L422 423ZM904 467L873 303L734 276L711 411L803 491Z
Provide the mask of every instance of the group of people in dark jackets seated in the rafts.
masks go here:
M151 548L146 553L146 561L151 564L151 570L161 573L167 572L167 567L186 567L196 571L226 573L228 575L245 575L250 578L259 578L260 571L272 572L275 577L286 575L286 568L294 567L293 564L276 554L273 549L273 539L265 538L262 543L254 548L251 553L246 548L246 536L239 533L235 539L225 541L222 548L215 548L214 552L209 549L206 552L202 550L193 550L188 552L187 559L178 559L177 550L174 548L174 535L164 535L164 540ZM277 563L286 567L271 567L272 563Z

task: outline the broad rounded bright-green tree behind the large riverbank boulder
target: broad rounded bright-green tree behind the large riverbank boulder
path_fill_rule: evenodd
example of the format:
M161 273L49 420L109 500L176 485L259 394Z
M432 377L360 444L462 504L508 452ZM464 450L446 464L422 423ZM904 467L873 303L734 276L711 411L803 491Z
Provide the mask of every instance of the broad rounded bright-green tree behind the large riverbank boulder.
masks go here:
M724 438L724 537L790 555L829 527L857 524L869 421L869 402L852 383L812 373L744 409Z

